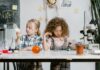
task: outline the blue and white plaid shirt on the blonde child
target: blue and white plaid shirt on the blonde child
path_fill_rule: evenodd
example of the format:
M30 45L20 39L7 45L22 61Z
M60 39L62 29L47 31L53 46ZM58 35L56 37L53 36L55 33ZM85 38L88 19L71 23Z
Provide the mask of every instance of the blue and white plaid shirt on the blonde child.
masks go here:
M40 36L34 35L32 37L28 37L27 35L23 35L20 37L20 44L17 47L22 49L34 45L38 45L42 48L42 38Z

